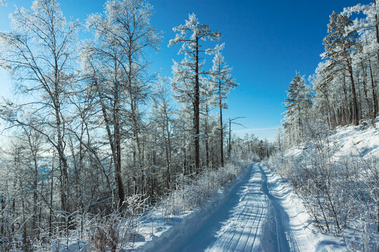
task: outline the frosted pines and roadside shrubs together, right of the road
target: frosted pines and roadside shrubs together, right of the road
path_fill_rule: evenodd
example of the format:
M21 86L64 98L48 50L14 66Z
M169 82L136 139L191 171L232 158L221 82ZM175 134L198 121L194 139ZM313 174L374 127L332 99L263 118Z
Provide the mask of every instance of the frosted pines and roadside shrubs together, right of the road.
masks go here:
M342 126L378 126L378 15L375 0L331 13L314 75L307 81L296 72L289 86L279 151L269 161L291 181L317 228L344 237L352 251L378 249L379 157L366 155L372 146L338 153L338 139L330 137Z

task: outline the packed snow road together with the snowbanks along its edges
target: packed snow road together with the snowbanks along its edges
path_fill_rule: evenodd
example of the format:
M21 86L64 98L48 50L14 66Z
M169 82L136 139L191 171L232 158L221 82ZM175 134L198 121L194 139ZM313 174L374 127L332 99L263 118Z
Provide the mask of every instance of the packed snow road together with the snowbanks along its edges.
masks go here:
M343 251L337 239L310 229L308 218L290 186L255 163L137 251Z

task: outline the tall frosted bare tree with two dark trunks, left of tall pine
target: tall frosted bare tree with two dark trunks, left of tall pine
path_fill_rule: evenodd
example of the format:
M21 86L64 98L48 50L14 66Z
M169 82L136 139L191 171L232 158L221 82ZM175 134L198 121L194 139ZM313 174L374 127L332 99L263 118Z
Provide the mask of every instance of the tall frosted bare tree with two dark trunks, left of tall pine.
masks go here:
M137 168L145 190L142 160L140 106L146 101L152 76L147 73L147 50L157 50L160 35L150 25L152 6L140 0L107 1L102 14L90 15L86 27L95 38L84 46L86 73L93 79L114 160L117 202L125 198L121 176L121 145L125 124L131 127Z

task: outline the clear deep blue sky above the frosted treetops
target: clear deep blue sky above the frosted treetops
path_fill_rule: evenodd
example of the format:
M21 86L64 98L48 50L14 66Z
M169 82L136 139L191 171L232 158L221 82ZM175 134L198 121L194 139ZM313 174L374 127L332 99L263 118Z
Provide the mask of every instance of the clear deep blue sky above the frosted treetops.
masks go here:
M29 8L31 1L7 0L0 6L0 29L9 29L8 13L13 5ZM309 76L314 73L319 55L324 50L328 16L333 10L368 0L150 0L155 14L152 25L164 32L161 50L152 55L152 70L162 76L171 76L172 59L178 47L167 48L174 38L172 27L182 24L188 13L195 13L199 21L218 29L225 42L223 54L239 87L232 90L225 118L245 116L239 120L246 128L234 126L237 134L255 134L274 140L284 112L286 90L295 71ZM84 22L86 15L101 12L104 1L60 0L67 17ZM211 58L208 59L208 62ZM11 84L0 71L0 95L9 97Z

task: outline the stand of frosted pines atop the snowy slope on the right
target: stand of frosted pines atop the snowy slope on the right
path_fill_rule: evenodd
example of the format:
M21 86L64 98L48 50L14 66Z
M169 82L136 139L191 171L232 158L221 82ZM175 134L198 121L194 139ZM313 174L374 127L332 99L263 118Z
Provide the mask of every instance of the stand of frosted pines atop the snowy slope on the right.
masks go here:
M379 28L376 1L333 11L316 73L307 84L296 73L287 91L284 130L288 144L299 144L315 120L328 130L359 125L378 116Z

